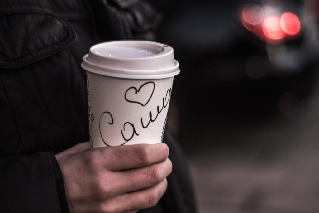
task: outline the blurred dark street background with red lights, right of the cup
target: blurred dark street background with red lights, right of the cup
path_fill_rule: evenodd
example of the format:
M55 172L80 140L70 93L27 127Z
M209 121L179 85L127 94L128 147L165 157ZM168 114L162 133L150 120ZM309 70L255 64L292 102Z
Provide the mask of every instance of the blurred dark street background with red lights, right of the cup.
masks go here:
M148 0L198 212L319 212L319 0Z

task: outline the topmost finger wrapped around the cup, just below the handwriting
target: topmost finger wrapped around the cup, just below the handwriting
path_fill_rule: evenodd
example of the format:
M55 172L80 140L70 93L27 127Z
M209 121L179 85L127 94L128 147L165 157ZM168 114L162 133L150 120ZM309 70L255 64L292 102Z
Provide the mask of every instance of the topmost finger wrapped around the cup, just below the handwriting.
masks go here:
M165 143L133 144L100 148L103 165L110 171L144 167L163 162L169 154Z

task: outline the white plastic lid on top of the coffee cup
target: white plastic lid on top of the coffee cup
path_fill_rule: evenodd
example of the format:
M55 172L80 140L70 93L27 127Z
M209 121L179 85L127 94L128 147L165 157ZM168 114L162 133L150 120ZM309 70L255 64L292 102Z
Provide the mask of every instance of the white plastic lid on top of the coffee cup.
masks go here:
M93 45L82 67L93 73L128 79L161 79L177 75L173 48L149 41L113 41Z

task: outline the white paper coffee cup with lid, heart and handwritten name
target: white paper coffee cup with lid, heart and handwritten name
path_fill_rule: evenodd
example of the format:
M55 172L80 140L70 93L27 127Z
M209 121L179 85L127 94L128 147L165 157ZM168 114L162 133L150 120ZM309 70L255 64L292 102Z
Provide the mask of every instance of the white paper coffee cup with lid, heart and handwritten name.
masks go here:
M91 147L162 141L174 76L173 49L149 41L96 44L87 71Z

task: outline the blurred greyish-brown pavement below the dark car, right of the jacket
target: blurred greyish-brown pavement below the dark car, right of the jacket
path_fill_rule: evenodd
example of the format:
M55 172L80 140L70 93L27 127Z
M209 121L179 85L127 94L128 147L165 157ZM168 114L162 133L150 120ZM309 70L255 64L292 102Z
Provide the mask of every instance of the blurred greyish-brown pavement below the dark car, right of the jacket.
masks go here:
M293 116L182 123L198 212L319 212L319 75ZM183 119L181 119L183 122Z

